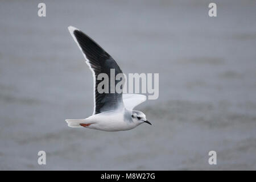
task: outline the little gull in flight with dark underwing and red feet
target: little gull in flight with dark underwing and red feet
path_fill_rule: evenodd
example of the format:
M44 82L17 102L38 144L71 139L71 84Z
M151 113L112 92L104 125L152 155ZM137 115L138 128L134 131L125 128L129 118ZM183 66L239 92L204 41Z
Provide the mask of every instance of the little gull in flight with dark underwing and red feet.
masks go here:
M115 60L102 49L94 40L79 29L69 26L68 30L85 57L86 63L93 73L94 81L94 110L93 115L85 119L66 119L69 127L86 127L102 131L130 130L148 123L146 115L133 108L146 101L141 94L99 93L100 83L96 77L106 73L110 77L110 69L115 70L115 76L122 73ZM117 85L117 81L115 81Z

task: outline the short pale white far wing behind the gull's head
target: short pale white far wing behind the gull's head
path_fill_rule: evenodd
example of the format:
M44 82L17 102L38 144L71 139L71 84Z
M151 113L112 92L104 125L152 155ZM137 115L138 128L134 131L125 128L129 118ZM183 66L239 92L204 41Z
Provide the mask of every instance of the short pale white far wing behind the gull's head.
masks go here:
M132 110L135 106L146 101L146 96L141 94L123 94L123 104L126 109Z

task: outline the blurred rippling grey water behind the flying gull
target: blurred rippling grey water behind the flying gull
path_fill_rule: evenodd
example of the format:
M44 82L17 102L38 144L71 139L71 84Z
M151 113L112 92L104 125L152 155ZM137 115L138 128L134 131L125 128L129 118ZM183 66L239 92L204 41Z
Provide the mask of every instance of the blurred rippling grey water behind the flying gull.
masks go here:
M1 1L0 169L256 169L256 2L216 0L215 18L210 2ZM159 99L136 107L153 126L67 127L93 111L70 25L124 73L159 73Z

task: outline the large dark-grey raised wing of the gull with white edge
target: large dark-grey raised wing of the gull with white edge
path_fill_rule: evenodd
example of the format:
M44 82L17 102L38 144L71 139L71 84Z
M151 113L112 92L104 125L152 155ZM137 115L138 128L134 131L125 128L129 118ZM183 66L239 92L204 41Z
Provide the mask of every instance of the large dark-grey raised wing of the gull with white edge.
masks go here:
M94 111L93 114L98 114L103 111L115 110L119 107L123 107L122 93L117 93L114 89L114 93L110 93L110 81L109 81L109 93L98 93L97 87L101 80L97 80L100 73L106 73L110 80L110 69L115 69L115 76L118 73L122 73L115 60L102 49L94 40L89 38L79 29L69 26L69 32L73 39L81 49L86 63L89 65L93 73L94 81ZM115 85L118 81L115 80Z

